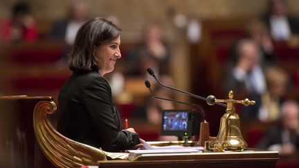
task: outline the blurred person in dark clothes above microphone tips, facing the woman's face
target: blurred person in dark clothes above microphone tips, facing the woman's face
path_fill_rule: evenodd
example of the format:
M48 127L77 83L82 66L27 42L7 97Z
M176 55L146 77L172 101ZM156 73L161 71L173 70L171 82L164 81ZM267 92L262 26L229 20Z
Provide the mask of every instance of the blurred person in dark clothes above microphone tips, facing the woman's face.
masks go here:
M129 51L126 62L128 75L143 76L149 67L156 75L168 73L170 50L163 40L160 26L157 24L145 26L141 43Z

